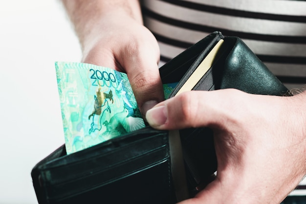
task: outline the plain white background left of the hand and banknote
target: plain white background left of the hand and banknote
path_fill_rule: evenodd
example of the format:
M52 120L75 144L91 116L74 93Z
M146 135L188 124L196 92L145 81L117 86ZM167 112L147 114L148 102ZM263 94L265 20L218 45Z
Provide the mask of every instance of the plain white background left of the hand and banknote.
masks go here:
M59 0L0 1L0 204L37 204L31 170L65 142L54 62L80 58Z

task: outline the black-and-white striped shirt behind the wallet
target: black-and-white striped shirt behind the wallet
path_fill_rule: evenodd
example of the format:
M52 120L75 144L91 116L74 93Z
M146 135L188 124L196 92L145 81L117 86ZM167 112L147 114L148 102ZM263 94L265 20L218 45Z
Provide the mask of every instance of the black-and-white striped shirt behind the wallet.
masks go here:
M288 89L306 84L306 0L144 0L161 65L214 31L238 36Z

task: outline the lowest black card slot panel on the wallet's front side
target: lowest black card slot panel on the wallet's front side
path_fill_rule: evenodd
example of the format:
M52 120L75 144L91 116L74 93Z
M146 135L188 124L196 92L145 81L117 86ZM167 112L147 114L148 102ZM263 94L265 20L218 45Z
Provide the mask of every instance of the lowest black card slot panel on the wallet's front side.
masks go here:
M173 187L168 172L169 162L160 162L124 178L104 185L70 193L48 195L49 204L175 204ZM87 181L84 181L87 182ZM98 183L95 181L95 183ZM67 187L67 186L66 186ZM69 187L69 186L68 186ZM65 191L70 191L71 188ZM76 186L79 187L79 186ZM74 189L74 186L72 187Z

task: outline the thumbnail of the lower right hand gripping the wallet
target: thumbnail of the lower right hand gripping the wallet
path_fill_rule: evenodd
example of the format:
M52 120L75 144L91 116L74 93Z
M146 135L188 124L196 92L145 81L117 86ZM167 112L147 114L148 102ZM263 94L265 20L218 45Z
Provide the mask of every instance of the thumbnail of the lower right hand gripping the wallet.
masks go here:
M168 113L166 106L159 106L150 109L146 114L146 118L151 126L157 127L162 124L165 124L165 122L167 121L167 114Z

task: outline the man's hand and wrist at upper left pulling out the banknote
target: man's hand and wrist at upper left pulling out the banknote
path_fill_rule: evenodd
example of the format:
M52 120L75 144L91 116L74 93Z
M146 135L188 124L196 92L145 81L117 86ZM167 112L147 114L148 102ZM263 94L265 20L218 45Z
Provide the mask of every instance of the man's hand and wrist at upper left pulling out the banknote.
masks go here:
M82 45L82 62L126 72L144 115L164 99L159 47L142 24L138 0L63 2Z

